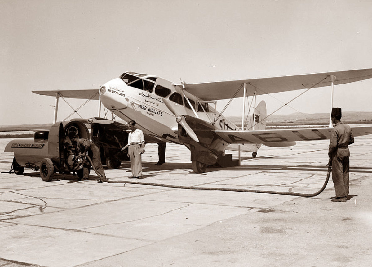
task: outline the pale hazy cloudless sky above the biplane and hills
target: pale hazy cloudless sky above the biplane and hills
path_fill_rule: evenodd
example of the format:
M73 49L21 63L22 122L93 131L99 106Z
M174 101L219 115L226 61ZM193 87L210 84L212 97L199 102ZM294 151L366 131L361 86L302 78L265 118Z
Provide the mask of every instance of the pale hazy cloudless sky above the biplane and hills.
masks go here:
M371 14L368 0L0 0L0 125L52 122L55 99L32 90L98 89L128 70L194 83L372 68ZM268 113L282 105L262 99ZM343 111L371 102L372 79L335 87ZM225 115L241 115L238 103ZM329 112L330 88L291 105ZM60 99L58 120L71 111Z

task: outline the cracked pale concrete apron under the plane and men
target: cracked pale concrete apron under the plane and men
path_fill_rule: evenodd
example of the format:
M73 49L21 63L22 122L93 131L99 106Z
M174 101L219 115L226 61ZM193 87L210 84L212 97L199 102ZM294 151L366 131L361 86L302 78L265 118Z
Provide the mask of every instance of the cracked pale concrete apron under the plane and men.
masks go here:
M1 171L13 158L1 152L6 143L0 140ZM331 181L310 199L99 184L71 175L43 182L32 170L1 174L0 257L41 266L308 266L307 259L338 266L355 263L353 255L363 263L371 259L371 201L363 187L370 185L371 143L372 136L357 137L350 147L350 194L359 196L347 203L330 202ZM193 173L188 150L175 144L167 144L166 163L155 166L157 145L148 144L141 181L314 193L327 172L327 144L262 147L255 159L243 153L240 167L205 174ZM105 171L125 181L129 168Z

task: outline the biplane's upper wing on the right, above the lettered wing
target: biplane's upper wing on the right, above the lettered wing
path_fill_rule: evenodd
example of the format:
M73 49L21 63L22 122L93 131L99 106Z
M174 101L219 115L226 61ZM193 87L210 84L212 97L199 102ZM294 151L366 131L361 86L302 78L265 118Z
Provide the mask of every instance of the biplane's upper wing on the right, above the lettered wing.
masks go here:
M247 83L248 96L252 96L254 90L256 90L256 95L264 95L267 93L330 86L331 75L336 76L334 84L339 85L372 78L372 69L333 71L223 82L186 83L185 89L187 92L192 93L204 101L212 101L232 98L242 83ZM235 97L243 97L243 90L240 90Z

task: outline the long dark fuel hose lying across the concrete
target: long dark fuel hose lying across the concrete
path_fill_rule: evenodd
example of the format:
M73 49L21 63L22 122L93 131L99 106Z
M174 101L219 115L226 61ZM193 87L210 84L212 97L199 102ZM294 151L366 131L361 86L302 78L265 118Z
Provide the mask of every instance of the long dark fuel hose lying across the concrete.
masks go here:
M79 155L76 159L83 157L84 155ZM171 187L171 188L179 188L179 189L190 189L190 190L212 190L212 191L231 191L231 192L244 192L244 193L261 193L261 194L276 194L276 195L288 195L288 196L299 196L299 197L315 197L318 196L320 193L323 192L325 187L327 186L332 167L328 165L327 177L325 178L323 186L318 190L316 193L313 194L303 194L303 193L293 193L293 192L279 192L279 191L267 191L267 190L252 190L252 189L238 189L238 188L222 188L222 187L193 187L193 186L183 186L183 185L171 185L171 184L155 184L151 182L133 182L133 181L112 181L107 179L106 177L102 177L100 175L95 166L93 165L92 160L86 155L86 158L89 160L90 164L92 165L94 172L96 172L97 176L99 177L98 181L101 182L109 182L111 184L140 184L140 185L153 185L153 186L161 186L161 187Z

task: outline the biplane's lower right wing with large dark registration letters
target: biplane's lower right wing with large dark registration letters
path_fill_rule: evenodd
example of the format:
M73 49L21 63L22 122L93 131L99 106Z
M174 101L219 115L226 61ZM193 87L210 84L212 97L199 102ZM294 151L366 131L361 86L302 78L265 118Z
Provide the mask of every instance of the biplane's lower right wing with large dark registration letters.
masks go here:
M351 127L354 136L372 134L372 126ZM323 140L330 138L332 128L299 128L261 131L224 131L215 130L215 133L229 143L235 144L264 144L278 146L279 143L291 145L295 141Z

